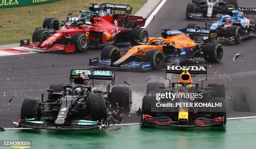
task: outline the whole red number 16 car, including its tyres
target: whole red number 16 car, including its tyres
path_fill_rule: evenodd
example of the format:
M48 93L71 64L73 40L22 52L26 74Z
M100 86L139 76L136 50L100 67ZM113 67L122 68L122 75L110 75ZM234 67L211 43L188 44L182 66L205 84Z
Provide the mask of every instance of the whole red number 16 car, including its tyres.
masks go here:
M146 22L143 17L115 13L100 15L90 11L80 12L87 15L88 18L68 19L74 22L71 25L66 23L65 29L62 30L36 29L32 42L20 40L20 46L49 51L84 52L89 45L98 47L125 42L135 45L137 40L146 42L148 38L147 30L140 28ZM54 21L52 22L54 23Z

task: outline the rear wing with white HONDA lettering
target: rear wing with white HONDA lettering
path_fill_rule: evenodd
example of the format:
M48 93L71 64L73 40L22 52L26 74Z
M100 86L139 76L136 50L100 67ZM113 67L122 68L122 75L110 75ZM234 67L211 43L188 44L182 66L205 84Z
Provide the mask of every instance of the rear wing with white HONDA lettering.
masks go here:
M205 74L206 78L202 80L202 86L203 81L207 81L207 66L176 66L176 65L166 65L165 69L165 79L169 80L169 84L171 84L171 79L169 79L166 74L167 73L173 73L173 74L181 74L184 69L188 69L189 73L191 75L195 74Z

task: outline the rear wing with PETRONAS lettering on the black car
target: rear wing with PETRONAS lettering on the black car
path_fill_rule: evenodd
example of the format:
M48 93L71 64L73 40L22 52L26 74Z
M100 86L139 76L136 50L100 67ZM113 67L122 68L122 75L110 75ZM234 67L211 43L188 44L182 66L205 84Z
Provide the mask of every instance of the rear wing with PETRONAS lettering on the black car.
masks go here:
M92 86L94 86L94 83L97 84L105 84L95 82L94 80L111 80L111 83L107 85L107 91L110 91L110 85L115 84L115 71L106 71L106 70L87 70L87 69L72 69L70 71L70 77L69 80L74 79L76 76L79 76L80 74L87 75L90 79L92 79Z

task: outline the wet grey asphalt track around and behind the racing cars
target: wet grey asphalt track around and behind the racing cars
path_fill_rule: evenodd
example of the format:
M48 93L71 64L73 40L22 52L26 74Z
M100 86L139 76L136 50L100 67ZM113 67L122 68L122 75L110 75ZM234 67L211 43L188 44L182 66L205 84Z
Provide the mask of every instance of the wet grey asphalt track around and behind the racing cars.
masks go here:
M154 20L147 26L150 36L160 37L161 28L172 30L185 28L188 23L196 21L185 20L185 10L190 0L167 0L164 6L155 15ZM243 2L243 3L242 3ZM255 0L240 1L241 7L256 7ZM204 22L198 22L201 25ZM206 63L203 59L192 61L189 65L207 65L208 83L225 83L228 87L251 87L254 88L256 81L256 38L243 40L241 44L225 45L224 56L221 63ZM120 45L120 49L128 49L130 44ZM91 69L87 66L90 58L100 57L100 49L90 49L85 53L32 53L15 56L0 57L0 126L12 128L12 121L17 121L20 116L20 107L26 97L40 98L41 92L49 88L51 84L69 83L69 72L74 68ZM241 56L233 61L231 58L236 54ZM242 56L243 55L243 56ZM146 83L149 81L164 81L164 68L161 71L147 72L116 72L115 86L128 86L133 92L133 108L125 121L138 123L136 112L141 106L141 100L146 91ZM217 74L216 75L214 74ZM152 78L146 81L148 78ZM197 76L194 81L200 81L204 76ZM177 81L177 78L173 78ZM102 89L105 87L101 86ZM13 98L10 102L8 102ZM228 117L256 116L255 112L235 112L227 109Z

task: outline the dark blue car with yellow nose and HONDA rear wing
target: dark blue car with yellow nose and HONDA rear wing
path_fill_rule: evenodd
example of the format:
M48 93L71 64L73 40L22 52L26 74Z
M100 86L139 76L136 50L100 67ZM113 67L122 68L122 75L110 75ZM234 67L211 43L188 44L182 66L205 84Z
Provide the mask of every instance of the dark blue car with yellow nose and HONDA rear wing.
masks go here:
M161 82L149 82L142 100L141 124L163 126L226 127L225 87L209 84L199 87L193 82L195 74L206 74L206 66L166 66L166 74L180 74L178 82L164 86ZM203 85L203 83L202 83ZM161 98L160 98L161 97Z

